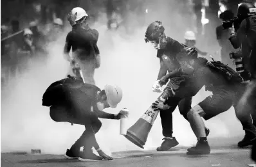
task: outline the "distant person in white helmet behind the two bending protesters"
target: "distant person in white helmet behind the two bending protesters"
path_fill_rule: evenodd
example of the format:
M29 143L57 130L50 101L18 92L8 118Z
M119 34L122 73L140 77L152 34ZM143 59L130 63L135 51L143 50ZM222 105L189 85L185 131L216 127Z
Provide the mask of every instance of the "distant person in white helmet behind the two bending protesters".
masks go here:
M197 47L195 47L195 45L196 45L196 34L193 31L186 31L186 33L184 35L184 38L185 38L185 45L186 46L196 48L198 54L201 54L202 56L209 55L208 52L200 51Z

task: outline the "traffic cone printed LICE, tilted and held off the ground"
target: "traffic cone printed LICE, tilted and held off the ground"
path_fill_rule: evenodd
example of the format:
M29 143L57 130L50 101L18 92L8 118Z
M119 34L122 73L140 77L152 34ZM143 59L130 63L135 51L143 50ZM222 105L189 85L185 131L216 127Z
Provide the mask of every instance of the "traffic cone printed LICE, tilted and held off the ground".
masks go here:
M167 92L163 91L163 93L158 97L158 101L165 102L168 95ZM158 116L159 109L154 111L152 108L153 105L147 109L145 113L139 118L139 120L131 126L125 135L125 138L129 139L134 145L137 145L140 148L143 148L147 141L147 137L149 136L149 132L151 131L152 125Z

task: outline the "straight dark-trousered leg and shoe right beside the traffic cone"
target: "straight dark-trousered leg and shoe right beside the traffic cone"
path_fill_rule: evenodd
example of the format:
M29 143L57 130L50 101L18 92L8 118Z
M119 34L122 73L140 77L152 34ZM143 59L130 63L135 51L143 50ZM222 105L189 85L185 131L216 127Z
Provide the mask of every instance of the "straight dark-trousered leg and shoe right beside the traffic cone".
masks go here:
M166 151L172 147L178 145L176 138L172 136L172 112L178 105L178 100L169 98L167 104L170 106L167 110L160 110L161 125L163 129L163 143L161 146L156 148L158 151Z

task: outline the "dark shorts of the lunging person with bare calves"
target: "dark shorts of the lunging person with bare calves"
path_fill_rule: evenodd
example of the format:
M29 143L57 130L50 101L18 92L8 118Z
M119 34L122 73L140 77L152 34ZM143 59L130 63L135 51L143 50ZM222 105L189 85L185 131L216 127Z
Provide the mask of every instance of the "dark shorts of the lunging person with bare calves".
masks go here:
M233 105L233 97L235 97L235 92L231 90L214 91L213 95L206 97L198 104L204 111L203 118L209 120L230 109Z

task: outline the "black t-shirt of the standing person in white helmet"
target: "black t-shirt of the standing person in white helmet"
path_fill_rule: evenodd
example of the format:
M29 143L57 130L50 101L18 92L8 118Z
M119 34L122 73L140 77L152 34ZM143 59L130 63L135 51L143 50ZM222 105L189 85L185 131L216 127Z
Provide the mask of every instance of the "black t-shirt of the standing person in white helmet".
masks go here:
M80 51L84 56L91 56L93 54L100 54L97 46L98 31L91 29L89 26L77 25L73 27L66 37L66 46L64 52Z

